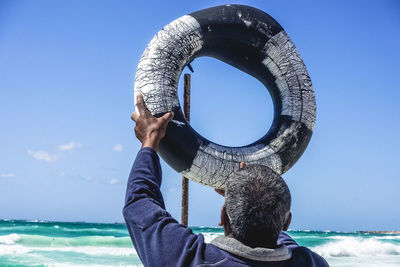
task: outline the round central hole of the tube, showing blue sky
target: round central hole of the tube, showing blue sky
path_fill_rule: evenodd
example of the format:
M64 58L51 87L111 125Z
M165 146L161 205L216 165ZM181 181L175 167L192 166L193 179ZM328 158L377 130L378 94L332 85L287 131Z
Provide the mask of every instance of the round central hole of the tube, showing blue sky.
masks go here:
M196 58L178 86L183 111L184 73L191 74L190 124L206 139L224 146L245 146L263 137L272 125L274 107L257 79L220 60Z

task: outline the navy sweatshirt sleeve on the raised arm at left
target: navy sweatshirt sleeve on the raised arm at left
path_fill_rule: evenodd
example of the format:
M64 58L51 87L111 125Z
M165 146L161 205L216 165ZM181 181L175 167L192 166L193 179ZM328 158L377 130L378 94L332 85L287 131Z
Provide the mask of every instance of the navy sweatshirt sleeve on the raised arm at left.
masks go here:
M204 247L195 235L165 210L160 191L161 166L157 153L142 148L133 164L123 215L139 258L145 266L188 266Z

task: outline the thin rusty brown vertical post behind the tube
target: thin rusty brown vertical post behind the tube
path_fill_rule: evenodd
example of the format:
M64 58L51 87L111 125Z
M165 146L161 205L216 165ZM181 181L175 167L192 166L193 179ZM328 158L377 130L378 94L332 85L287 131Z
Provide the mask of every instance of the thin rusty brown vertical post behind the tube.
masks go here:
M188 123L190 123L190 74L184 76L184 92L183 92L183 114ZM181 223L188 225L188 209L189 208L189 180L182 176L182 213Z

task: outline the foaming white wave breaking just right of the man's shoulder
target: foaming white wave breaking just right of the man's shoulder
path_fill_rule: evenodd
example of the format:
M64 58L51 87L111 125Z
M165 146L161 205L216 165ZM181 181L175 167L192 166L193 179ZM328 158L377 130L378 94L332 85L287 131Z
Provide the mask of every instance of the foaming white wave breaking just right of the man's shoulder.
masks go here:
M323 257L400 255L400 245L385 243L374 238L346 237L311 249Z

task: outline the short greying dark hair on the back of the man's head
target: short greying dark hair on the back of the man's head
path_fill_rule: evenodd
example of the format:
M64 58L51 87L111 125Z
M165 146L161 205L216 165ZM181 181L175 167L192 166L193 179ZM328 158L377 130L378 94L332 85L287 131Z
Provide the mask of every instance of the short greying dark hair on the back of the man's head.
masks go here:
M276 245L290 205L289 187L268 167L249 165L228 179L225 208L232 235L247 246Z

